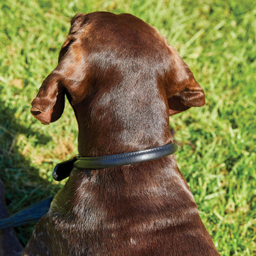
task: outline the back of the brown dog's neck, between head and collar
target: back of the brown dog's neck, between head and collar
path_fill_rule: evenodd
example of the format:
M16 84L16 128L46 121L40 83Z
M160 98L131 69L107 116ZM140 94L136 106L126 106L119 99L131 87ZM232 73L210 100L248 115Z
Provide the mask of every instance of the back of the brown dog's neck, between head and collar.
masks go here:
M173 142L167 102L157 88L147 93L115 90L86 98L74 107L80 156L108 156Z

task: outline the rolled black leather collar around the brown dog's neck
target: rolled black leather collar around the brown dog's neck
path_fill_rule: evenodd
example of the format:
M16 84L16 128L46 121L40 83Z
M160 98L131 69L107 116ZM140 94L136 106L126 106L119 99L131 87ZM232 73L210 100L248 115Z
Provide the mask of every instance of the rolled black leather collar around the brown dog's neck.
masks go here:
M53 178L55 180L63 180L70 175L73 167L77 169L104 169L111 167L119 167L123 165L134 165L139 162L145 162L163 158L173 154L177 150L177 145L168 143L160 147L154 147L150 150L141 150L124 154L116 154L111 156L98 157L79 157L76 156L65 162L56 165L53 170Z

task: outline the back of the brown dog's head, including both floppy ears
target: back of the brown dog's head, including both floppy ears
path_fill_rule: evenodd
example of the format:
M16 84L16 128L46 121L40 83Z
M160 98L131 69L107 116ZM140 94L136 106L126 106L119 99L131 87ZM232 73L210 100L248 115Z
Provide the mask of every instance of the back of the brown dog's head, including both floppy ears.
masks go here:
M157 29L130 14L76 14L57 68L42 83L31 113L49 124L63 113L65 94L76 112L98 91L103 95L121 83L128 87L129 81L141 87L154 81L169 115L205 104L203 89Z

